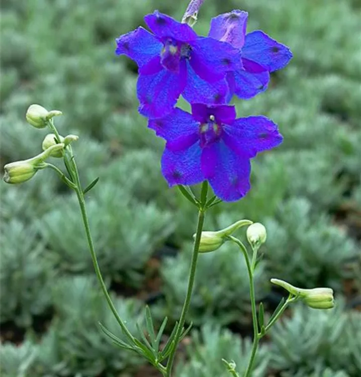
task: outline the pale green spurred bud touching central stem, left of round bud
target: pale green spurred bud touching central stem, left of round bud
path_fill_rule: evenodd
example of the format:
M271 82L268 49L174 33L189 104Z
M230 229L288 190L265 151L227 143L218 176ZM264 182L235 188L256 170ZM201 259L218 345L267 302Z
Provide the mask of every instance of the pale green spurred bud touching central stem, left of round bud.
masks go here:
M227 237L230 236L238 228L252 224L250 220L239 220L227 228L219 230L217 232L204 231L201 234L201 243L199 245L199 251L201 253L207 253L220 248L224 242L227 241ZM195 238L196 235L193 235Z

